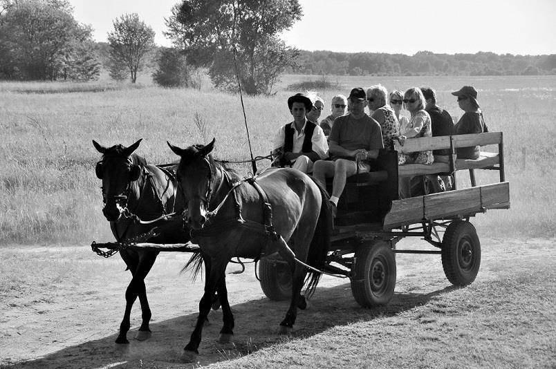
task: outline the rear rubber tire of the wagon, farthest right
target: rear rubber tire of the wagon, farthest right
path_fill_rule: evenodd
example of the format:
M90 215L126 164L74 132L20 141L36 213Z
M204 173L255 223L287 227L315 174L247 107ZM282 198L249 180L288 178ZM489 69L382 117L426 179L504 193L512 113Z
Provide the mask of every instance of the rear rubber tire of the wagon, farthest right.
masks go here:
M442 267L448 281L456 286L470 285L481 267L481 243L475 227L465 220L454 220L442 239Z

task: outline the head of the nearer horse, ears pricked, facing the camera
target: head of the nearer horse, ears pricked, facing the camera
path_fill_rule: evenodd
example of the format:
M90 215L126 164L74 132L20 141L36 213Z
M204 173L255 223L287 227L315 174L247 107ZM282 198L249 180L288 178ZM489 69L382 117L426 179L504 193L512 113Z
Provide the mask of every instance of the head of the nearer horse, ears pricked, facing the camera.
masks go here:
M193 145L180 149L167 142L174 153L180 156L178 181L187 200L185 223L192 229L201 229L207 221L211 194L216 185L214 162L210 155L215 139L207 145Z

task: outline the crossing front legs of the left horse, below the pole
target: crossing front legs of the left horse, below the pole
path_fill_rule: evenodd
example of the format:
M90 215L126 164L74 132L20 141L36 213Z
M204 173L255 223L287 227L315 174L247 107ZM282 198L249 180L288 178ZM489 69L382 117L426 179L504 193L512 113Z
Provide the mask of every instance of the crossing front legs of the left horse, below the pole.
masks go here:
M122 255L122 258L124 256ZM129 261L131 258L124 258L124 261ZM129 265L129 269L131 270L131 282L127 286L127 290L125 292L125 311L124 311L124 318L122 319L122 323L120 323L120 334L118 334L118 338L116 339L115 343L129 343L127 340L127 332L129 331L129 327L131 323L129 321L131 315L131 308L133 307L133 303L135 303L137 297L139 296L139 301L141 303L141 318L142 323L141 327L139 328L140 332L138 333L138 339L141 341L150 337L151 330L149 329L149 321L151 320L151 309L149 308L149 302L147 301L147 291L145 288L145 277L149 274L151 267L154 265L154 261L156 261L156 254L145 256L140 258L140 260L136 263L136 265Z

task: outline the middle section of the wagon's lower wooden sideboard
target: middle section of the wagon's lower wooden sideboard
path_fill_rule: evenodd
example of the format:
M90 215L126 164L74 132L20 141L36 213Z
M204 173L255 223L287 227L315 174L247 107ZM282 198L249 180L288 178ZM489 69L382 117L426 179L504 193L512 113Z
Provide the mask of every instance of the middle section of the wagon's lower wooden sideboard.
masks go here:
M425 218L436 219L454 214L481 211L481 189L471 187L425 196Z

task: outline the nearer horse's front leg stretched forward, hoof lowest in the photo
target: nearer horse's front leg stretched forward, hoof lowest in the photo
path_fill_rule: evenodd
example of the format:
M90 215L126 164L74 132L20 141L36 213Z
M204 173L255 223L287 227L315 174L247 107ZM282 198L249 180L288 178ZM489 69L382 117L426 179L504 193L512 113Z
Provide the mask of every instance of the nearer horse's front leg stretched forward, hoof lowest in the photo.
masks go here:
M189 343L187 343L187 346L183 348L183 354L181 355L181 359L183 361L190 363L196 360L196 357L199 353L198 348L201 344L203 325L205 324L205 319L207 319L207 315L210 312L212 297L214 296L216 287L219 286L225 276L226 264L228 264L228 261L226 261L225 263L211 263L210 274L209 276L207 276L207 280L205 281L205 293L203 294L201 301L199 301L199 314L197 316L197 323L195 325L193 333L191 334ZM222 301L224 301L224 299L222 299ZM225 299L225 301L227 303L228 299Z

